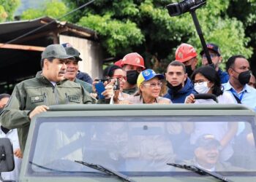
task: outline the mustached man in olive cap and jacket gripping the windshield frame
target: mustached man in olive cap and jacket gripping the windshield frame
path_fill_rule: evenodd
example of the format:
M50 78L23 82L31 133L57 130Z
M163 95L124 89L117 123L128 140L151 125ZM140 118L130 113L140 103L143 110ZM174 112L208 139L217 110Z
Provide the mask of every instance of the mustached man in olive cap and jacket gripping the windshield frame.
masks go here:
M18 128L20 148L25 149L31 119L57 104L96 103L80 84L64 79L68 58L64 47L52 44L42 52L42 74L15 86L12 96L1 113L1 124L8 129ZM105 98L113 95L113 87L106 86Z

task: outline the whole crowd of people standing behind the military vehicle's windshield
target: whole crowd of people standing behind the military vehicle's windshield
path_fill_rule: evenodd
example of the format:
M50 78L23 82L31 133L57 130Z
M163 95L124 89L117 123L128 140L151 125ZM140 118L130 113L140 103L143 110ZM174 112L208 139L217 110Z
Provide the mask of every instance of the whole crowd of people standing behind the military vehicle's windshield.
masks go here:
M165 74L146 69L143 57L131 52L105 68L105 91L100 93L102 99L94 87L99 80L94 79L92 82L88 74L79 71L78 62L82 61L80 52L67 44L49 45L42 52L42 71L35 78L17 84L11 97L0 95L0 106L4 108L0 117L1 132L4 132L4 137L14 132L15 136L12 135L11 140L19 140L13 146L15 156L21 159L31 119L48 111L51 105L216 103L212 99L195 99L196 94L208 93L215 95L219 103L239 103L256 111L256 82L249 61L243 55L230 56L226 71L223 71L219 67L222 63L219 47L207 44L207 48L212 65L208 65L205 52L201 51L199 56L192 45L181 44L176 50L176 60L170 61ZM202 66L197 68L199 61ZM115 87L116 82L118 89ZM195 122L190 126L190 144L207 134L200 130L204 128L214 135L216 146L225 148L217 155L226 161L233 154L230 141L235 135L243 133L243 124L218 123L208 129L207 124ZM202 139L201 143L203 140L206 141ZM200 150L197 150L196 154L199 153Z

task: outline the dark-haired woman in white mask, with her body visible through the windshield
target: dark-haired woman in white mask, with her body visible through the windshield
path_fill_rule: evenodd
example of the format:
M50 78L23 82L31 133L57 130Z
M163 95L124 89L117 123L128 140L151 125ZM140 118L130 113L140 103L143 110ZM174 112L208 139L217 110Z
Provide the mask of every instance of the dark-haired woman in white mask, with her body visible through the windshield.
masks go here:
M223 92L217 71L211 66L197 68L192 74L192 82L197 93L209 93L217 96L219 103L236 103L229 92ZM187 96L185 103L216 103L212 99L195 100L193 94ZM188 127L188 126L187 126ZM220 159L227 161L233 155L231 141L238 130L237 122L195 122L189 127L191 130L190 143L195 144L200 135L214 135L221 144Z

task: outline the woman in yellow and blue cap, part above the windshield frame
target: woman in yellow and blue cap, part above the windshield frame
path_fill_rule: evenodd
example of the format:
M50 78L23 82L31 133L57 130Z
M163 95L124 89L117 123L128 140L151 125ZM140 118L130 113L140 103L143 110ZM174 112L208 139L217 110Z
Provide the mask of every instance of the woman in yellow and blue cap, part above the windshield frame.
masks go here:
M165 79L163 74L156 74L154 70L146 69L142 71L137 79L138 92L134 96L115 103L171 103L170 99L159 97L162 79Z

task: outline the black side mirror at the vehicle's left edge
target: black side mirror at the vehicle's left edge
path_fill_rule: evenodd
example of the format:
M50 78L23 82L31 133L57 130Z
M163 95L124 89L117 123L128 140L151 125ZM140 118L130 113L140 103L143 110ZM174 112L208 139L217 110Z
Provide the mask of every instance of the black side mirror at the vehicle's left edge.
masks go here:
M0 138L0 181L4 181L1 172L10 172L14 167L12 143L9 138Z

